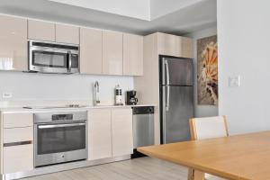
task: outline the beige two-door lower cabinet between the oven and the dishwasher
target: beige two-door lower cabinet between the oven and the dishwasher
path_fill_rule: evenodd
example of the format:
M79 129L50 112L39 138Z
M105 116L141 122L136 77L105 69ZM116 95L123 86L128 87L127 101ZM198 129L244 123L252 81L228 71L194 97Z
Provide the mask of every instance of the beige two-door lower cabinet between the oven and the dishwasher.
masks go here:
M88 111L88 159L132 154L131 108L100 108Z

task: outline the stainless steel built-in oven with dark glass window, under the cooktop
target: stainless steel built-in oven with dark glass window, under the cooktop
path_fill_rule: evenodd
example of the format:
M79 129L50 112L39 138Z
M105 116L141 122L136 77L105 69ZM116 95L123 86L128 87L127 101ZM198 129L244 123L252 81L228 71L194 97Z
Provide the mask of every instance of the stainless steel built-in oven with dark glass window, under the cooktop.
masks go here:
M86 111L34 113L34 166L87 158Z

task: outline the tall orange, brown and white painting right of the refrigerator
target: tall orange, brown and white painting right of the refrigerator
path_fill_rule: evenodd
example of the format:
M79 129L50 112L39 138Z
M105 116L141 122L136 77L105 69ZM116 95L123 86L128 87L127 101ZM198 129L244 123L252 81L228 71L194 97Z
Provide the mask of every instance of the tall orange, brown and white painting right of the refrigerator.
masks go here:
M217 36L197 40L198 104L217 105L218 44Z

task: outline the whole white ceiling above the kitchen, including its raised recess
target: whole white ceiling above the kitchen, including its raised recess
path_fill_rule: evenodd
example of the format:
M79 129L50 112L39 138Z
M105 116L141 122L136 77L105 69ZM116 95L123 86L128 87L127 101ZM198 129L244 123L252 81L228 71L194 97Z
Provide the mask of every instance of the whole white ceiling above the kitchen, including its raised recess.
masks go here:
M104 1L117 3L104 5ZM216 0L1 0L0 13L143 35L198 31L216 25L217 19Z

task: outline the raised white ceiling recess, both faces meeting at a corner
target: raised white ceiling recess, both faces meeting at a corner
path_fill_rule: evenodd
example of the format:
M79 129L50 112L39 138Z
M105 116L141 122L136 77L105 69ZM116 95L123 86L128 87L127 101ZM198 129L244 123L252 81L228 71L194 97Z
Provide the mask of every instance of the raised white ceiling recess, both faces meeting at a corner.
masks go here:
M202 0L49 0L151 21Z

